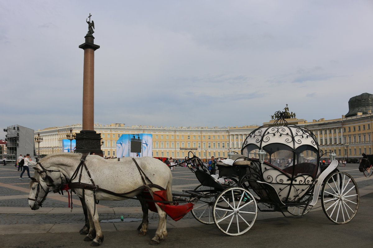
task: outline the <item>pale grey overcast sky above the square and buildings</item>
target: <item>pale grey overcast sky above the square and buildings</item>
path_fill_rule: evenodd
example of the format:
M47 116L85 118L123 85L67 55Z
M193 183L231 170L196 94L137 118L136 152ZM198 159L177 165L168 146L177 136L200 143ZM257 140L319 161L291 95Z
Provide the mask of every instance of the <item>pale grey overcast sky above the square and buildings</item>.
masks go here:
M95 123L334 119L373 93L371 0L0 0L1 131L82 123L90 13Z

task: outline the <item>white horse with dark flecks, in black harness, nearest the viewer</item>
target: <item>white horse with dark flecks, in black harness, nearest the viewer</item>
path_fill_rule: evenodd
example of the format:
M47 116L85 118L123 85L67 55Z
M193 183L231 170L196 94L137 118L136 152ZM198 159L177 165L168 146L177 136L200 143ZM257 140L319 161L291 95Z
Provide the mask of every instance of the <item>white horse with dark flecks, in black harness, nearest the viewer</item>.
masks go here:
M90 230L84 240L93 241L92 246L98 246L103 241L94 200L126 200L127 197L140 195L145 188L150 188L150 193L162 188L167 190L167 200L172 201L172 175L170 169L160 160L151 157L137 158L137 167L132 158L112 162L92 155L85 159L86 170L81 159L82 154L52 154L41 159L40 164L33 168L40 175L40 185L48 185L48 189L53 192L59 191L55 186L60 186L64 180L71 180L75 193L85 200L87 206ZM81 168L77 170L80 163ZM60 173L52 172L54 170ZM85 189L82 189L82 186ZM128 194L122 194L127 192ZM35 195L30 195L30 198L32 197ZM29 200L30 207L35 203L36 201ZM155 207L159 214L159 223L150 244L158 244L167 237L166 213L157 204ZM145 235L147 230L146 218L146 221L143 219L140 235Z

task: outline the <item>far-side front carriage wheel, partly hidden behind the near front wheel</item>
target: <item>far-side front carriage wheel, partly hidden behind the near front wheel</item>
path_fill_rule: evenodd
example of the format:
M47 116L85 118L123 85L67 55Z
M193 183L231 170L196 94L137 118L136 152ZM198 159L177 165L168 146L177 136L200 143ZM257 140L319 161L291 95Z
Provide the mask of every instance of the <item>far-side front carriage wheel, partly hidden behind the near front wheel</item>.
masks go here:
M199 222L207 225L214 224L214 219L212 217L212 209L215 203L217 193L209 192L213 191L214 188L203 186L202 184L198 185L195 191L206 191L200 192L206 198L200 198L198 203L194 205L191 210L192 216ZM227 214L227 211L218 211L217 215L224 217Z

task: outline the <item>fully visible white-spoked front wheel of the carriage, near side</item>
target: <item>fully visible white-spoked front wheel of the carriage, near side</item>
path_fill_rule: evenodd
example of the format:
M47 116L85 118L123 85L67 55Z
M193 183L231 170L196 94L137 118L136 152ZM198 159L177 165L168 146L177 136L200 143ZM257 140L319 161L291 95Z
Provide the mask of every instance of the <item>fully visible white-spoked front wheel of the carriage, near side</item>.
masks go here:
M227 211L221 216L219 211ZM222 191L213 206L213 217L216 226L225 234L237 236L247 232L258 214L254 196L247 189L232 187Z

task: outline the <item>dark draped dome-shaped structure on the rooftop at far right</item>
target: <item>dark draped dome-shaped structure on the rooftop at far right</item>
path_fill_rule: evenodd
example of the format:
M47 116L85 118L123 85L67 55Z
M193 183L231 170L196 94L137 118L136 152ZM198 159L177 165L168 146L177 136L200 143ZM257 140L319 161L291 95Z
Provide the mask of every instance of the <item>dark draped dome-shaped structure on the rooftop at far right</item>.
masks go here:
M346 117L357 116L357 113L367 114L368 110L373 110L373 95L363 93L350 98L348 101L348 113Z

